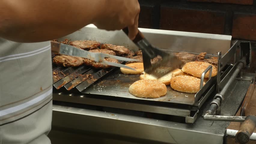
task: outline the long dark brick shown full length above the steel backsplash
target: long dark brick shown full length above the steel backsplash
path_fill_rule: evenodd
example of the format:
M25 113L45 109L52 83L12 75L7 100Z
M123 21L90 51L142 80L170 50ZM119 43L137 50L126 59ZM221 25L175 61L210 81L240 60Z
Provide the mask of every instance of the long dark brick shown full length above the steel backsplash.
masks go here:
M160 29L223 34L224 12L161 7Z

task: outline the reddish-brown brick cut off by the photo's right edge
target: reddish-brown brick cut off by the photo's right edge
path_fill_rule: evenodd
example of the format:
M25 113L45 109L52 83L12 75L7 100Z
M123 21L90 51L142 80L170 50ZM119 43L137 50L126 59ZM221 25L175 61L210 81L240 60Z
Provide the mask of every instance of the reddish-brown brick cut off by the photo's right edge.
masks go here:
M256 15L238 14L233 16L232 37L256 40Z

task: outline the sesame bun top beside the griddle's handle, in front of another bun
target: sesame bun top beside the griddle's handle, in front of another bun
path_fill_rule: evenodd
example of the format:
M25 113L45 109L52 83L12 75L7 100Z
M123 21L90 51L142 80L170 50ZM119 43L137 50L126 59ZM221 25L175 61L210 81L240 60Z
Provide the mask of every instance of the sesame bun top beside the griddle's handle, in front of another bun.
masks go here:
M180 92L197 93L200 90L200 79L193 76L176 76L171 80L171 87Z

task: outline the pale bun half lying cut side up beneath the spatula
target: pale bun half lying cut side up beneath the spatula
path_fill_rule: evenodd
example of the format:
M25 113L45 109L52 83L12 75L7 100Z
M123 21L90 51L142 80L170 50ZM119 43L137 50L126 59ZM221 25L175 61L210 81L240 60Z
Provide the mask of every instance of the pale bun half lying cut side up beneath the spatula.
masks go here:
M160 78L157 78L155 77L154 75L151 75L151 74L148 74L148 73L145 73L143 72L141 75L140 75L140 79L148 79L148 80L155 80L155 81L158 81L158 82L162 82L164 83L165 85L169 85L170 82L171 82L171 79L172 77L174 77L174 74L172 72L160 77Z

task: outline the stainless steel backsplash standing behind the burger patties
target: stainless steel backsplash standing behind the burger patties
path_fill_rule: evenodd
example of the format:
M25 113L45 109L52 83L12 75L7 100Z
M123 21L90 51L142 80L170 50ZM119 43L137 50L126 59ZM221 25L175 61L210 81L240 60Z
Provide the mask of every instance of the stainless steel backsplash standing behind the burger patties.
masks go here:
M160 49L186 51L186 52L207 52L217 55L221 51L225 54L230 49L231 36L203 34L194 32L178 32L158 29L139 30L145 35L148 41ZM81 30L61 38L72 40L94 40L102 43L126 46L136 51L138 47L124 34L123 31L105 31L97 29L94 25L88 25Z

